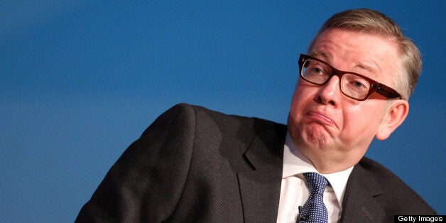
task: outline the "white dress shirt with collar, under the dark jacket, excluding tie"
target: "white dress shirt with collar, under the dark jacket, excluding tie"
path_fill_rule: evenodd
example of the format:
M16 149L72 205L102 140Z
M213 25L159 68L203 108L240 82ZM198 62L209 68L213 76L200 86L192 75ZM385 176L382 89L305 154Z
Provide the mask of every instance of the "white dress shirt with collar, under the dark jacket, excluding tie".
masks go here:
M347 170L321 174L327 178L332 187L325 187L324 204L328 211L328 222L338 222L342 214L342 199L345 187L353 167ZM303 206L310 196L310 190L305 185L303 173L317 172L312 163L303 156L295 147L290 135L286 134L285 146L283 148L283 173L281 200L279 201L277 222L297 221L299 206Z

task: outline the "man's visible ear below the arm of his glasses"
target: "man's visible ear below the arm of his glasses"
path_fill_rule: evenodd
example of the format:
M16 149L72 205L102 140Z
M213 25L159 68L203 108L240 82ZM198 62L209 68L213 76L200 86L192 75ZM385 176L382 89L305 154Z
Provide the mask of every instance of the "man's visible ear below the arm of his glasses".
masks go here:
M388 138L403 123L409 113L409 103L406 100L397 99L390 103L391 105L384 113L378 132L376 132L376 138L379 140Z

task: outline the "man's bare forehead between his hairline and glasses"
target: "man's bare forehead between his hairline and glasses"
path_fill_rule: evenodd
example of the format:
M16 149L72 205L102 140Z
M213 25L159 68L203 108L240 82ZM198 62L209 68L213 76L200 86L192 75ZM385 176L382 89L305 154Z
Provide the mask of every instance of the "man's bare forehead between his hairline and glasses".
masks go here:
M398 50L391 40L339 28L322 33L309 53L339 70L371 76L393 74L398 67Z

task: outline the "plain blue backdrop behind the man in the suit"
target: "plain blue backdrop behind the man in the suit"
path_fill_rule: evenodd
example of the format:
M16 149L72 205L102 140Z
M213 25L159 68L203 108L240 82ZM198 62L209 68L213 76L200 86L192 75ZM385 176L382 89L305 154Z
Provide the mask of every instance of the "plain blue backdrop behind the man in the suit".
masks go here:
M446 214L446 1L33 2L0 3L0 222L72 222L179 102L285 123L299 53L333 13L363 7L424 62L406 122L366 156Z

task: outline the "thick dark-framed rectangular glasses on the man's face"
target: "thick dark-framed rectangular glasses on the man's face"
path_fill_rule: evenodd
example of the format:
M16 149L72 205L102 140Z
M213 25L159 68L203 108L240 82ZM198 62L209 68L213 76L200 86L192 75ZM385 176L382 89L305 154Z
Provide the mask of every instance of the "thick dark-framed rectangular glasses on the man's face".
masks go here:
M340 80L339 88L342 94L358 101L366 100L374 92L388 99L401 99L401 94L398 94L391 87L355 72L337 70L327 62L309 55L300 54L299 72L303 80L314 85L325 85L325 83L336 75Z

